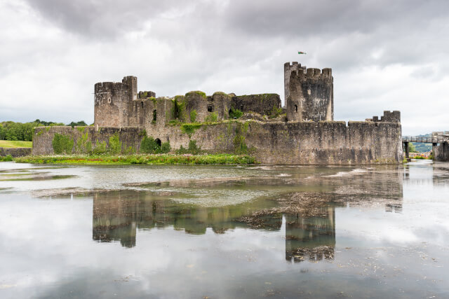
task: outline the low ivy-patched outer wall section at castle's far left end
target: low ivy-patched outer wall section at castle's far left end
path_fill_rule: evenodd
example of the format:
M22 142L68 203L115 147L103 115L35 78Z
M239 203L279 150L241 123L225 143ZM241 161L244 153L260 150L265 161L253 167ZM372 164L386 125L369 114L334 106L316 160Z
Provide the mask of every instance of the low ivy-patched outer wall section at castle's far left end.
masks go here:
M32 155L53 155L52 141L57 133L69 136L74 140L73 153L76 153L77 141L86 133L88 133L88 141L91 141L93 147L101 142L105 142L109 146L109 138L114 134L119 134L123 151L129 146L133 146L138 151L143 137L141 130L137 127L100 127L99 130L95 130L95 127L91 126L73 128L69 126L36 127L33 135Z

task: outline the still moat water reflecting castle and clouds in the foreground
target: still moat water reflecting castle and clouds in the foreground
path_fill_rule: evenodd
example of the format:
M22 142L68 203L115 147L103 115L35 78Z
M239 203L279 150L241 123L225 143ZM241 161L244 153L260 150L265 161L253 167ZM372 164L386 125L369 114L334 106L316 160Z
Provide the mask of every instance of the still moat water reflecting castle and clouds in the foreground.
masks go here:
M448 298L449 164L0 162L0 298Z

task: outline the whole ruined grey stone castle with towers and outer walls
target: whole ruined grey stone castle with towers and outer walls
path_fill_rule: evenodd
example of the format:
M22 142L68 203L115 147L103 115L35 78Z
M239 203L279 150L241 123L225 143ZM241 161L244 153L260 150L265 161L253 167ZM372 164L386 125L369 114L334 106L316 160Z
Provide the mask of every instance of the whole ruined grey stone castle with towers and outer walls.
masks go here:
M145 137L172 151L194 141L207 153L248 153L263 163L370 164L402 161L401 116L384 111L366 121L333 119L332 69L284 64L285 107L276 94L234 95L201 91L175 97L138 92L138 80L95 84L91 127L39 127L34 154L52 154L55 134L93 146L119 134L123 148L140 150Z

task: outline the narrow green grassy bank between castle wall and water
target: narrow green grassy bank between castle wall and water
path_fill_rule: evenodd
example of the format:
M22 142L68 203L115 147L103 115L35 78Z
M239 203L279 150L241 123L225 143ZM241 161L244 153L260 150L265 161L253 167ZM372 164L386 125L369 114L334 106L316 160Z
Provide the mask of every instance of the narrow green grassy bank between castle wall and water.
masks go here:
M34 164L254 164L249 155L29 155L14 158L18 163Z

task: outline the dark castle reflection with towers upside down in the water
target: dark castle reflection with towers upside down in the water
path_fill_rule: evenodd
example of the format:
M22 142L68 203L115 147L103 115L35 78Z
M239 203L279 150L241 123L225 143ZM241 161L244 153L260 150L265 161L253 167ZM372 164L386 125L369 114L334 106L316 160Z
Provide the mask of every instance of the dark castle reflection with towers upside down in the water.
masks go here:
M385 203L384 209L401 212L402 174L389 176L381 172L368 178L342 179L342 182L340 186L358 186L361 188L358 190L364 190L356 194L360 198L366 197L366 193L379 198L395 198L397 201ZM339 196L338 192L335 196ZM373 197L366 197L366 200L373 200ZM133 247L136 245L137 230L171 226L188 234L201 235L206 233L207 228L212 228L217 234L234 228L279 231L285 223L286 260L292 263L332 260L336 244L335 208L351 205L351 202L329 202L319 208L319 213L315 212L314 215L319 216L310 216L307 211L304 214L263 212L276 208L278 204L276 200L261 199L225 207L199 207L146 191L98 192L93 195L93 239Z

